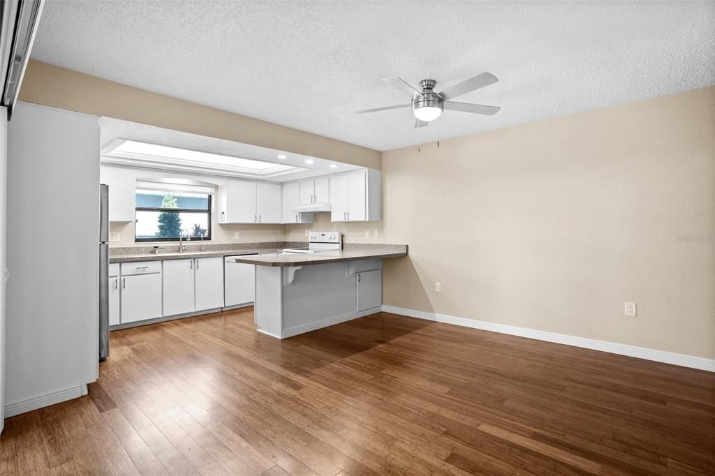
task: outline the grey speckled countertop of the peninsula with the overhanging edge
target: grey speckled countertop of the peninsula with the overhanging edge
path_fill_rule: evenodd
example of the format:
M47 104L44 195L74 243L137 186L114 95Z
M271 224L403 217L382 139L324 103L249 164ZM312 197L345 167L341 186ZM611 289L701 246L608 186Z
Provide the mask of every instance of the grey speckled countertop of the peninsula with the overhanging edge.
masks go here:
M309 266L311 264L327 264L360 259L384 259L407 256L406 244L365 244L349 249L335 251L320 251L298 254L262 254L236 258L237 263L257 264L259 266Z

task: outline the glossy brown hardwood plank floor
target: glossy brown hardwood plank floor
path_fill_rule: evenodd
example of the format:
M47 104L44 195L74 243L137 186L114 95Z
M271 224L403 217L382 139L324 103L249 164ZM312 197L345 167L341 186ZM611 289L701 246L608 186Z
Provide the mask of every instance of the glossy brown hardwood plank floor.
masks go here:
M715 374L375 314L112 332L89 395L6 420L2 475L704 475Z

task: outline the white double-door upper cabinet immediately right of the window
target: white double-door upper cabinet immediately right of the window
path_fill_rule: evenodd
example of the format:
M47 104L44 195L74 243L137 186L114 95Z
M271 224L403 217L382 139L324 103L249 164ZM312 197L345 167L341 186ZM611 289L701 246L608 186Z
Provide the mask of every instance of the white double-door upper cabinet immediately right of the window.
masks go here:
M229 180L219 187L219 223L281 223L281 186Z

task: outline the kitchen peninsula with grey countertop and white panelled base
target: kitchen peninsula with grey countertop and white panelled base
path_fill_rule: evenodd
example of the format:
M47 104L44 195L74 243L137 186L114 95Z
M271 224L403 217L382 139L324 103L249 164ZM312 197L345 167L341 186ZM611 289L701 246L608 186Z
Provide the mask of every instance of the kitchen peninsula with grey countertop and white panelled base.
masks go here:
M311 253L235 257L256 265L258 332L285 339L380 311L382 260L407 256L406 244L345 244Z

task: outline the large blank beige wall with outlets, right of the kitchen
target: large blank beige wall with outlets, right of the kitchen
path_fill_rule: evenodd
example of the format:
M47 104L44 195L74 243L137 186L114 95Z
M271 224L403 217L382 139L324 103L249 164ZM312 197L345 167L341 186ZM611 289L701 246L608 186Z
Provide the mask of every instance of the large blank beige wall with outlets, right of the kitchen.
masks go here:
M385 304L715 358L715 88L421 149L383 153Z

